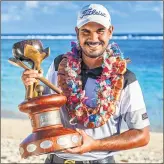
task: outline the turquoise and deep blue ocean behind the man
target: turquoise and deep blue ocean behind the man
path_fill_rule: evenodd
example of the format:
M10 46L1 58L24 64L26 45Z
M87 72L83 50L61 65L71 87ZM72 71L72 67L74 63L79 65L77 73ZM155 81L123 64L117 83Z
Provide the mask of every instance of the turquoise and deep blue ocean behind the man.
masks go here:
M19 112L25 89L21 81L23 69L8 62L13 57L14 43L25 39L40 39L51 54L42 63L44 76L53 59L70 51L75 34L2 34L1 35L1 110ZM152 131L163 131L163 35L116 34L112 41L119 44L125 58L130 58L128 69L136 74L141 85ZM112 42L111 41L111 42ZM136 100L137 101L137 100Z

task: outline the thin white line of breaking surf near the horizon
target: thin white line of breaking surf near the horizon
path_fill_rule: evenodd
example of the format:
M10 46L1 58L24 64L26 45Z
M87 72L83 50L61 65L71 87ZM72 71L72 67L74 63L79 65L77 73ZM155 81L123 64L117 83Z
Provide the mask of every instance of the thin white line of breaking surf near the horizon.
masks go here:
M1 35L1 39L44 39L44 40L71 40L76 35ZM114 35L113 40L163 40L162 35Z

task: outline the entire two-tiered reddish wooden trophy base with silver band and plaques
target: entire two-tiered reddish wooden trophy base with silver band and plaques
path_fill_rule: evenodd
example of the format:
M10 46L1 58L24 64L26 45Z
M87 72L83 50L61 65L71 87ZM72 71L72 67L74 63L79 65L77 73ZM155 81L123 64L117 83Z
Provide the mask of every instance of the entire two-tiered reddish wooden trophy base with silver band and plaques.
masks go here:
M20 111L28 113L33 128L32 134L20 144L22 158L81 145L81 135L64 128L61 123L59 110L65 103L65 96L52 94L29 99L19 105Z

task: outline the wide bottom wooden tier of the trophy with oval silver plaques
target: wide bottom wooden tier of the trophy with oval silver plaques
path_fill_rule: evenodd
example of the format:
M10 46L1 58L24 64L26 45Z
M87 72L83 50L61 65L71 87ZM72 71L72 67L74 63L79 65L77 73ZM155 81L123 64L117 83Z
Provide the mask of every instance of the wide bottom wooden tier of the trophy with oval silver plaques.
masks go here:
M22 158L61 151L81 145L81 136L72 129L54 127L30 134L20 144Z

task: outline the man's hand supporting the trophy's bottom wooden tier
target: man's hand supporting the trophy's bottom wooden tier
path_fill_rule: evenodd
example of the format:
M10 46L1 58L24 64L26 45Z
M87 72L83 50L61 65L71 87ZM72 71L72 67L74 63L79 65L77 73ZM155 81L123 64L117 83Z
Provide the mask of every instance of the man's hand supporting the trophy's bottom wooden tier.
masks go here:
M72 154L83 154L89 151L98 150L98 142L99 140L95 140L92 137L88 136L84 130L76 129L77 132L79 132L82 136L82 145L75 147L75 148L69 148L64 150L63 152L68 152Z

